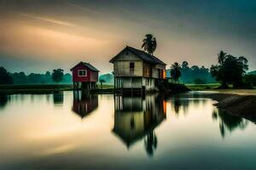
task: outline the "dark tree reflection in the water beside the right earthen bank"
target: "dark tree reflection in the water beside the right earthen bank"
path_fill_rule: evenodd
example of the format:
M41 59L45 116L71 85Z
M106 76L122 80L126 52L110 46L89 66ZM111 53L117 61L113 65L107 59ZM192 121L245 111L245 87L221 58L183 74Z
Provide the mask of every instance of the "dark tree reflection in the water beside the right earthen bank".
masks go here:
M219 131L224 138L226 131L232 132L236 128L241 130L247 127L248 121L239 116L231 116L224 111L216 109L212 112L212 120L219 122Z

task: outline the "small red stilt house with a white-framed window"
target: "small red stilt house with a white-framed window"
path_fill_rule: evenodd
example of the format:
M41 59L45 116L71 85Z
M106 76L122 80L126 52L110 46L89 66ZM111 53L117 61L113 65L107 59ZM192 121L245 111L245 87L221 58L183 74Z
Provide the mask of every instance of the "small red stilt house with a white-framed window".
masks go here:
M74 88L96 88L99 71L90 63L81 61L78 65L73 66L70 71L72 71L73 75Z

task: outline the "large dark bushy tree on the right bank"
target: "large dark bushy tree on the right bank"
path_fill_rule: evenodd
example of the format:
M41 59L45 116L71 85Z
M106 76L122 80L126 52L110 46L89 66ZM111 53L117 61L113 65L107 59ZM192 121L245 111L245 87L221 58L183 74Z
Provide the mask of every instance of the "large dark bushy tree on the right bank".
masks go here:
M224 60L218 63L219 65L212 65L211 73L212 77L215 77L217 81L222 83L222 88L228 88L229 83L234 88L240 88L244 85L243 77L248 70L245 57L237 58L228 54L225 55Z

